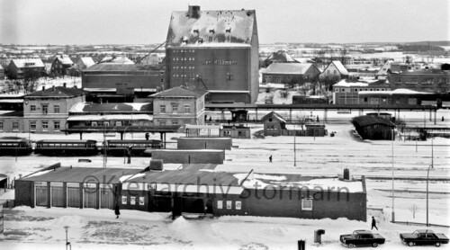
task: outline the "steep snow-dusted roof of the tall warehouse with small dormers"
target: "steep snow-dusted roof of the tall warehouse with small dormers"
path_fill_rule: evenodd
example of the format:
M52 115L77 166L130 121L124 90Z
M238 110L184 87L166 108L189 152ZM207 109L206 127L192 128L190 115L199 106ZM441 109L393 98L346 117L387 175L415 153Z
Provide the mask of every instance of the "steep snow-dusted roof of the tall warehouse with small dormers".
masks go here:
M173 12L167 31L166 47L211 42L250 44L256 22L254 10L198 11L198 17L188 11Z

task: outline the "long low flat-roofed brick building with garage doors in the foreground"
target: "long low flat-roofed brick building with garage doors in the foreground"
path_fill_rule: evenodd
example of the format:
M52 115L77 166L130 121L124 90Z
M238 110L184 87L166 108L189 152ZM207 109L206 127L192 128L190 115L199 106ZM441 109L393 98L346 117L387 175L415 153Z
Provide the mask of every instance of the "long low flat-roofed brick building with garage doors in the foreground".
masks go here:
M53 165L15 181L15 205L112 209L118 202L122 210L171 211L173 216L366 220L364 176L229 173L215 167L188 164L154 171L151 164L143 170Z

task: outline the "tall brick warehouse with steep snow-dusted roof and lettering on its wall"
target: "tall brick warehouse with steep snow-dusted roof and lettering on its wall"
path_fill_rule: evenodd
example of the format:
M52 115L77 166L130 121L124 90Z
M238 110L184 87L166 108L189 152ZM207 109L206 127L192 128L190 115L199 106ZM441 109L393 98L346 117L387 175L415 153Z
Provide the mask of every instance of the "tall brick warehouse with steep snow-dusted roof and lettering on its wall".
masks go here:
M210 103L255 103L258 35L254 10L174 12L166 39L168 88L209 91Z

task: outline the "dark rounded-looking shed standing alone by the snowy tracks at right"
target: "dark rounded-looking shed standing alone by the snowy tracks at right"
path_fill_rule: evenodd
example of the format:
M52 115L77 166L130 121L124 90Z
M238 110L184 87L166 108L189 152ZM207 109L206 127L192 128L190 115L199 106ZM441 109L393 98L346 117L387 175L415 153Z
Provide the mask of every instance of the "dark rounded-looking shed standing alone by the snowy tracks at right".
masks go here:
M395 125L383 117L364 115L352 120L356 131L363 139L392 139Z

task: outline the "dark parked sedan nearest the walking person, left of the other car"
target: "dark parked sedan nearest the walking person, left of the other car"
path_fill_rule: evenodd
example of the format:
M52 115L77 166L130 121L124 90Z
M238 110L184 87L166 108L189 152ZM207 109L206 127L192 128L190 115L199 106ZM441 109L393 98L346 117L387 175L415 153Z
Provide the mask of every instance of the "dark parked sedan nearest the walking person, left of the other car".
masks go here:
M374 234L369 230L356 230L351 235L342 235L339 237L340 242L348 247L355 246L374 246L384 244L384 237Z

